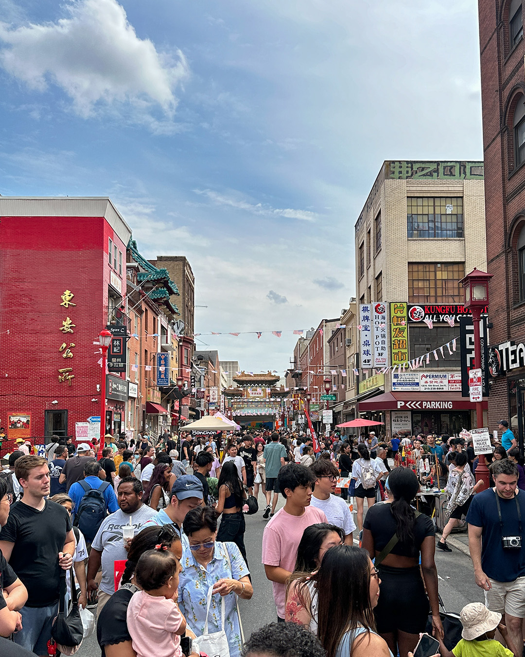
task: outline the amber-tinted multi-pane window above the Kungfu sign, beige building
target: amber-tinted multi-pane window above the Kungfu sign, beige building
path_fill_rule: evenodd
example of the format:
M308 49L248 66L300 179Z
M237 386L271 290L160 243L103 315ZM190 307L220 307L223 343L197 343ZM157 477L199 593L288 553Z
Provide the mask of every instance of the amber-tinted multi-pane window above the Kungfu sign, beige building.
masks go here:
M464 276L462 262L409 262L408 301L411 304L462 304L465 297L459 281Z

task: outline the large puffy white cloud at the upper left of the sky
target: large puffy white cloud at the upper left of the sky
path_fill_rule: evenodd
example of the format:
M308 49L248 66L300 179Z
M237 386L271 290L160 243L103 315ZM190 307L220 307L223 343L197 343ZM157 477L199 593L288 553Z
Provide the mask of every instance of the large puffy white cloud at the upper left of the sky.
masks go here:
M70 17L18 27L0 23L0 64L38 91L50 83L87 117L103 107L131 104L140 116L158 107L171 118L175 87L188 76L181 51L159 53L138 38L116 0L71 0ZM164 122L154 131L166 132Z

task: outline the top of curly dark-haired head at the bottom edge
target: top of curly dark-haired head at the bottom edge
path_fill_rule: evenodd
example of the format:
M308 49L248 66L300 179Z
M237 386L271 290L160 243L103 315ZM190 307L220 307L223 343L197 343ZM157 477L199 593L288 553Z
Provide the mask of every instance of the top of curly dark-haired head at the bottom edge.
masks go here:
M326 657L319 639L304 625L270 623L253 632L244 645L243 657Z

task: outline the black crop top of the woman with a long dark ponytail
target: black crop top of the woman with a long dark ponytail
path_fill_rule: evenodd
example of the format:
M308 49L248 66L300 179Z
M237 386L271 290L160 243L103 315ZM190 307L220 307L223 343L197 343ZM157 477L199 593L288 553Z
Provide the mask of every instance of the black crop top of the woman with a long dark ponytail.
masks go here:
M396 520L392 516L392 505L381 502L373 505L366 512L363 527L370 530L373 536L374 549L381 552L388 545L390 539L396 533ZM398 541L392 548L392 555L418 557L421 543L427 536L435 536L434 523L425 514L417 516L414 527L414 541L410 544Z

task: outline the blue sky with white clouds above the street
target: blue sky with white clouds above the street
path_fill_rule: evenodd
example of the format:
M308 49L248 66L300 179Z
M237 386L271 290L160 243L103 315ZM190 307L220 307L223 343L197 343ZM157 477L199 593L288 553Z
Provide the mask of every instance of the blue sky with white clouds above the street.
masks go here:
M109 196L146 258L190 261L197 348L284 373L293 330L355 294L383 160L482 159L477 21L476 0L0 0L0 194Z

